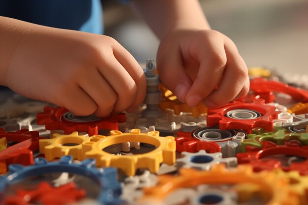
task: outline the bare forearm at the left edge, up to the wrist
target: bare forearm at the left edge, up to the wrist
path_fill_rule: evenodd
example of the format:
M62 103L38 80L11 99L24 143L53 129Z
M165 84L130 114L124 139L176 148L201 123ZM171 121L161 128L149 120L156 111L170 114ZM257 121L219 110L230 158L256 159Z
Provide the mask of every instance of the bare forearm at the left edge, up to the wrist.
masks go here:
M0 85L7 86L6 72L18 45L37 29L37 25L0 16Z

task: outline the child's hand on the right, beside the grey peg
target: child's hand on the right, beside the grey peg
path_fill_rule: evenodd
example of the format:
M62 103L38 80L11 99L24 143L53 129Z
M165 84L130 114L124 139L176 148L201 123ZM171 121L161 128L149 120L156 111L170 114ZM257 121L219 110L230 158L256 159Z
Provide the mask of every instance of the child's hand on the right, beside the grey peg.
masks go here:
M235 44L215 30L176 30L157 53L160 79L189 106L222 106L246 94L247 67ZM218 87L218 89L216 89Z

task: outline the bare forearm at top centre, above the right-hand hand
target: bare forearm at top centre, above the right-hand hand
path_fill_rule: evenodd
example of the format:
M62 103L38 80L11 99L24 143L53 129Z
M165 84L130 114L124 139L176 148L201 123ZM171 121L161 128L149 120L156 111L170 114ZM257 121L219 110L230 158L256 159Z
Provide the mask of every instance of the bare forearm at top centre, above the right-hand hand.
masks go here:
M210 29L198 0L132 0L159 39L176 29Z

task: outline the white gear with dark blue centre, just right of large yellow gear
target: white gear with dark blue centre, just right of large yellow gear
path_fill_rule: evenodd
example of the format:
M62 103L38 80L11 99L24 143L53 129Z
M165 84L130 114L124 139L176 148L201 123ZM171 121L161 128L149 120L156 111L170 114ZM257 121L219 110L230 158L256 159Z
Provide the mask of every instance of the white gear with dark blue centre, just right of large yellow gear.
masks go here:
M196 153L182 152L182 158L177 159L177 164L183 168L210 170L213 165L220 163L226 167L236 167L237 161L236 157L222 158L220 152L206 153L205 150L200 150Z

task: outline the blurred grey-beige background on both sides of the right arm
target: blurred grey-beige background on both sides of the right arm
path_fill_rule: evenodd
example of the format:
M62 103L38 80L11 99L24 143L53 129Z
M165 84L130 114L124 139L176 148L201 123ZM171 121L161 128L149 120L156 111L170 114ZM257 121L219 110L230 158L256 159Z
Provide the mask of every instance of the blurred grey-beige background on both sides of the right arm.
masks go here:
M155 59L159 41L129 4L103 0L105 34L139 62ZM212 27L237 45L248 66L308 74L308 0L200 0Z

